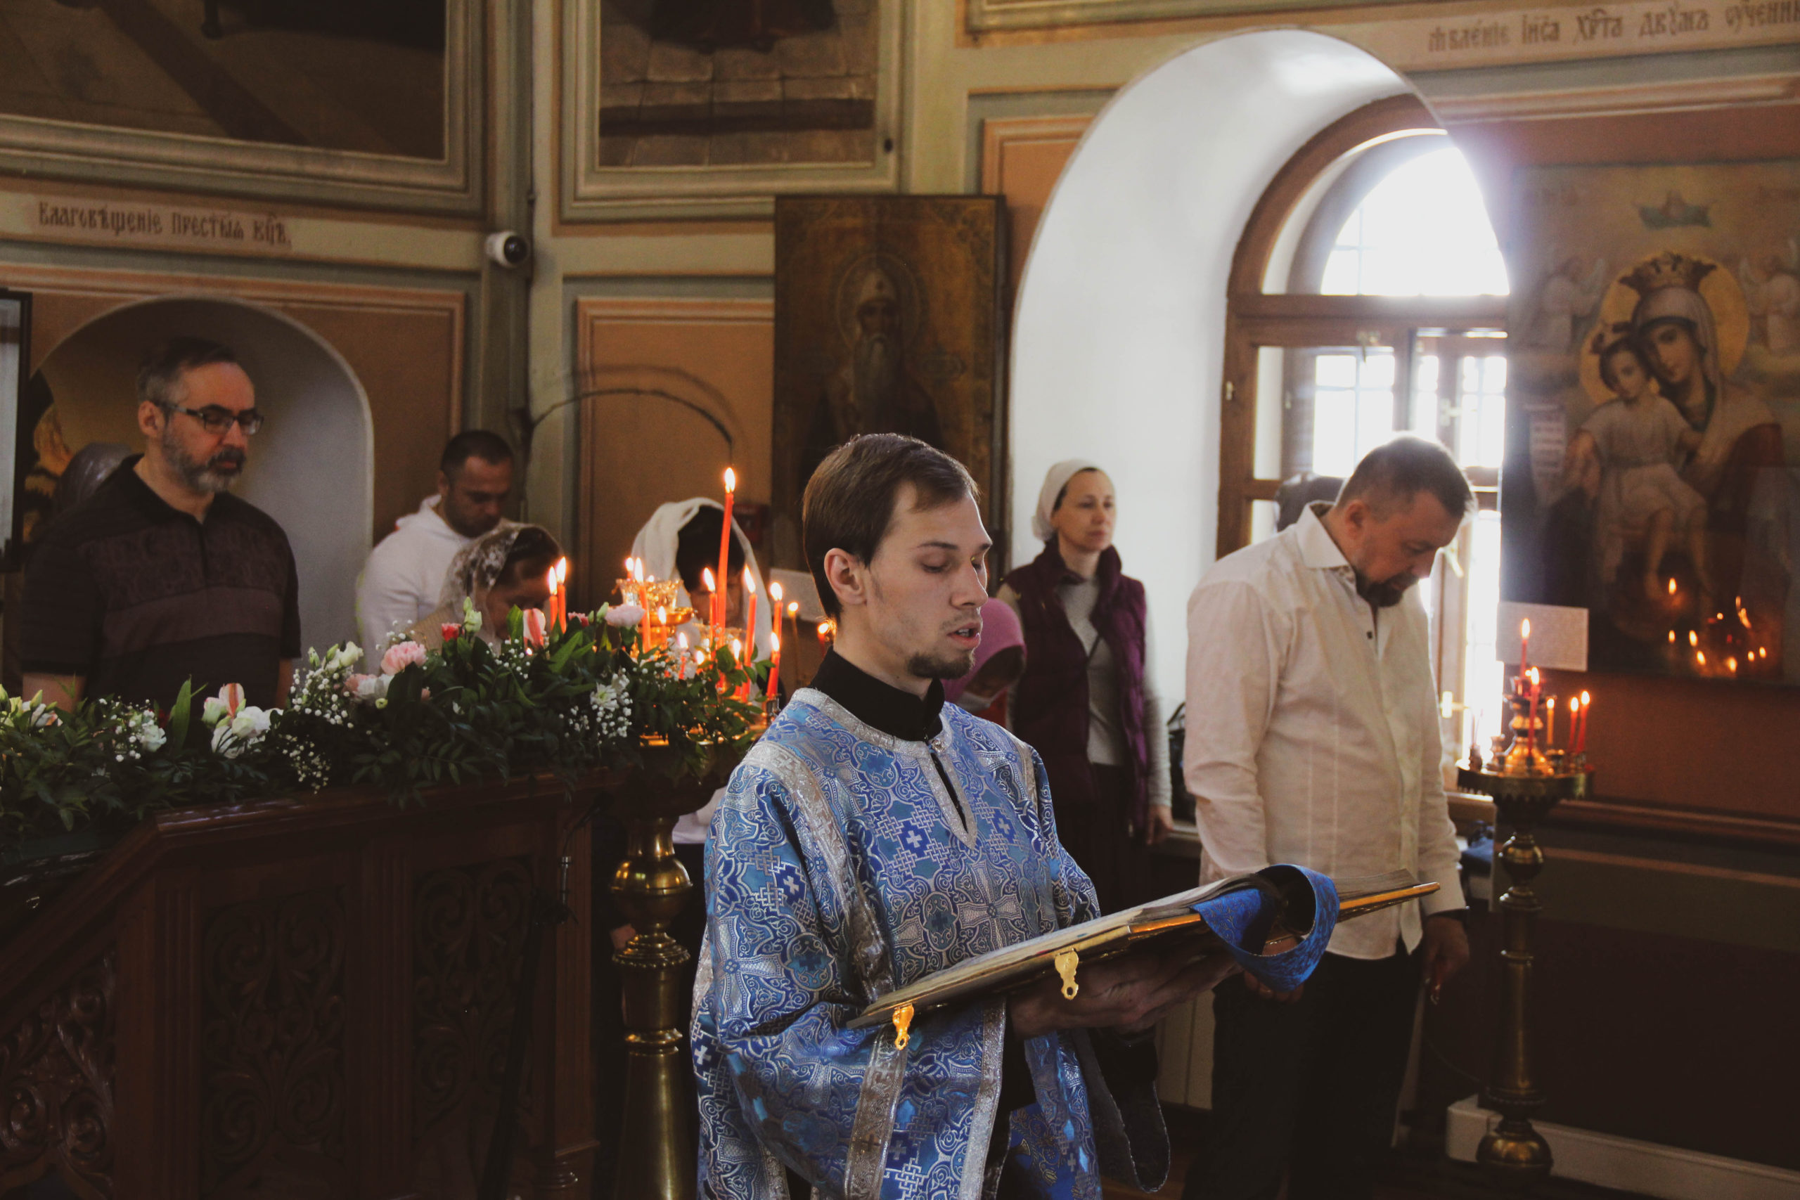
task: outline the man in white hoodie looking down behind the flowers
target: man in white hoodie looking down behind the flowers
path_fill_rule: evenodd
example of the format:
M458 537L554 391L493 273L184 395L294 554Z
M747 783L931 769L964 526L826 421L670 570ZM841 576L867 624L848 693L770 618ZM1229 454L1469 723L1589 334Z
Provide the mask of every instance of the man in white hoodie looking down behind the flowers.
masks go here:
M380 649L437 608L450 560L500 524L511 491L513 448L504 437L464 430L450 439L437 464L437 495L394 524L356 581L356 622L365 649Z

